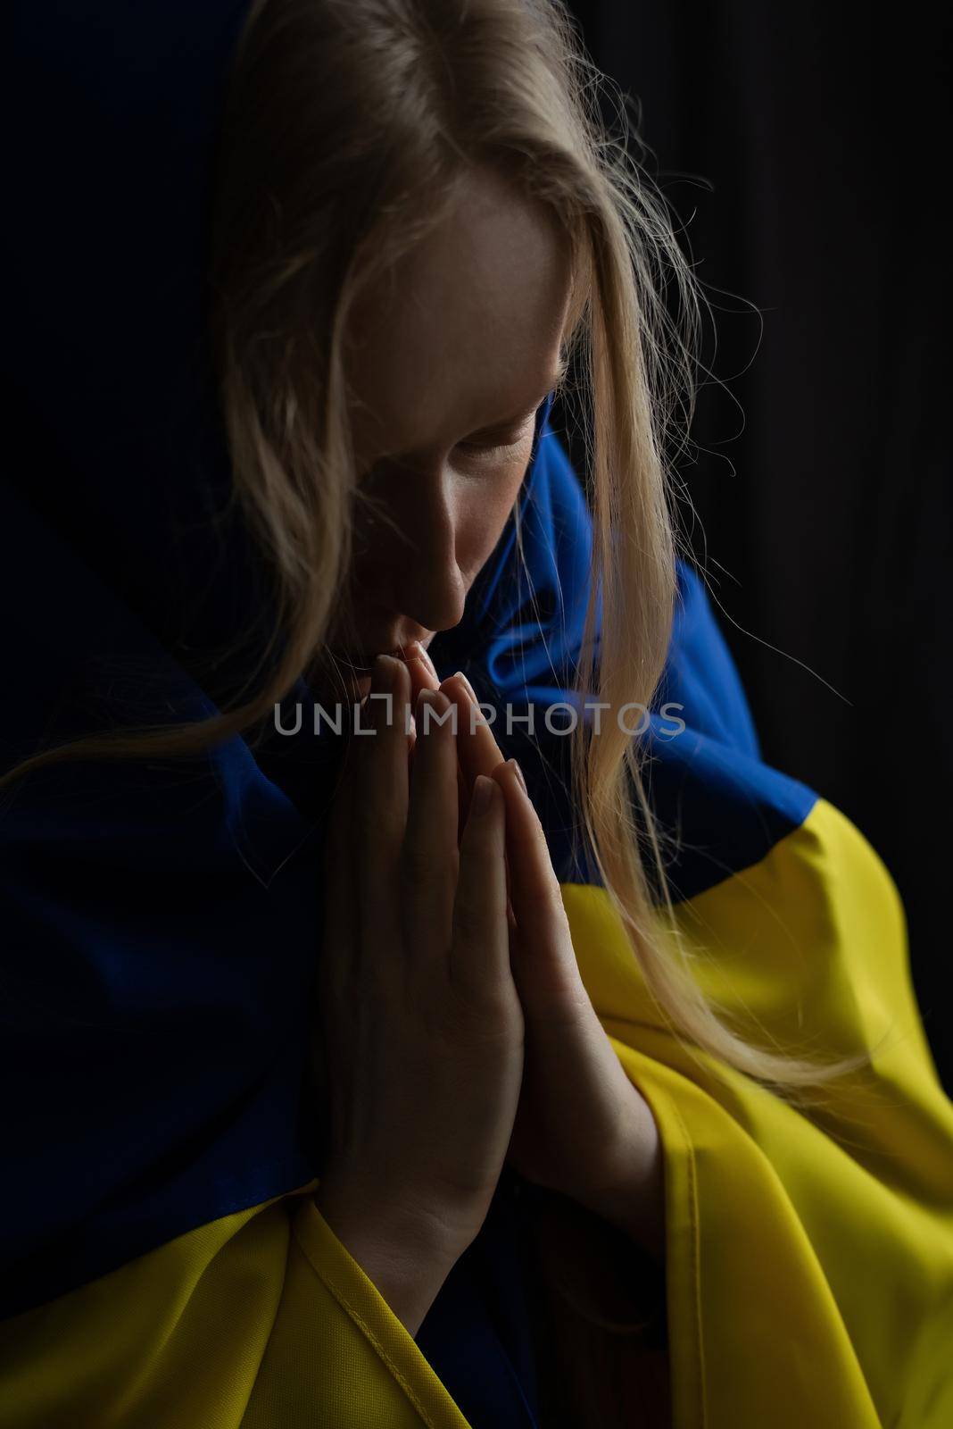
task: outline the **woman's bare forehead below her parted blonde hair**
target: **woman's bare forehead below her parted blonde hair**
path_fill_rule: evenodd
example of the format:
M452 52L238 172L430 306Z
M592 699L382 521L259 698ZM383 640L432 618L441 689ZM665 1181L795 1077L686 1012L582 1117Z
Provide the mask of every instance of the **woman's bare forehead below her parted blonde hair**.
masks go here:
M358 442L457 442L539 400L559 357L568 243L549 211L479 171L357 304L347 336Z

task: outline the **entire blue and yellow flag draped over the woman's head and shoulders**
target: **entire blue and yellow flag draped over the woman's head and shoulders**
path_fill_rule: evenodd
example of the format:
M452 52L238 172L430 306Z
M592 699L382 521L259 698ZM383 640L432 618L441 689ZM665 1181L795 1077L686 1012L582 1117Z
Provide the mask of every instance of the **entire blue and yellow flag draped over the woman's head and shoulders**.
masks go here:
M4 769L91 730L214 714L270 633L204 347L215 119L245 10L14 6ZM536 710L534 737L505 714L495 732L659 1126L671 1422L943 1429L953 1107L893 882L843 815L762 760L705 586L679 563L639 736L678 933L753 1040L872 1063L796 1109L690 1056L578 856L568 740L542 717L572 703L592 552L549 400L518 514L525 566L511 517L431 654L499 710ZM554 1368L516 1177L417 1338L311 1199L317 875L344 737L315 737L304 679L288 702L300 730L258 747L61 763L0 790L0 1429L541 1422ZM651 1350L629 1353L632 1386ZM638 1412L623 1403L622 1422Z

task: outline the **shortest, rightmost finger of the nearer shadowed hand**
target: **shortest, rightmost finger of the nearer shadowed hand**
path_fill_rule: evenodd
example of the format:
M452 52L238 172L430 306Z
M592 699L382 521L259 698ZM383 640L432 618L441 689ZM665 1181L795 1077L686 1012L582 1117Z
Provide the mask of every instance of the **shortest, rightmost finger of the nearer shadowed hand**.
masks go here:
M465 1003L494 1002L511 985L504 867L504 799L492 779L482 776L476 789L489 786L481 812L471 803L459 850L451 937L451 986Z

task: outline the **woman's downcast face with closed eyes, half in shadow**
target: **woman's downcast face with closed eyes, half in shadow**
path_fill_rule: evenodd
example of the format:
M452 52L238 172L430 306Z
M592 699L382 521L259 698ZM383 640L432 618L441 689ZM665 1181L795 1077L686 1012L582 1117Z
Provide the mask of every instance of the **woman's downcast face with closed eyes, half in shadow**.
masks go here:
M372 506L358 506L352 577L328 639L337 697L364 697L377 653L427 646L461 620L526 474L568 303L565 240L545 209L485 169L362 297L345 362Z

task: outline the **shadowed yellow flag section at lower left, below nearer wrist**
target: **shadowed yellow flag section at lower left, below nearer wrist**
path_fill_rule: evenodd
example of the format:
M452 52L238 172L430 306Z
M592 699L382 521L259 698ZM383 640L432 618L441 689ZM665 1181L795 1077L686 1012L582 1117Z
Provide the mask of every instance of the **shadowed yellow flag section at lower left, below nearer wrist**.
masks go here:
M0 1323L0 1429L469 1429L311 1192Z

